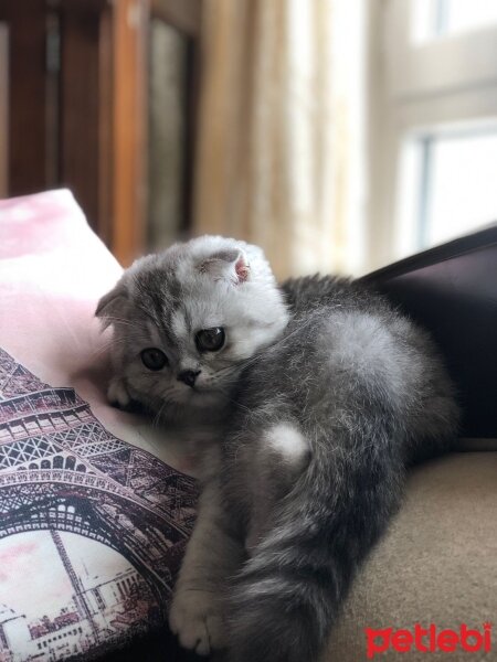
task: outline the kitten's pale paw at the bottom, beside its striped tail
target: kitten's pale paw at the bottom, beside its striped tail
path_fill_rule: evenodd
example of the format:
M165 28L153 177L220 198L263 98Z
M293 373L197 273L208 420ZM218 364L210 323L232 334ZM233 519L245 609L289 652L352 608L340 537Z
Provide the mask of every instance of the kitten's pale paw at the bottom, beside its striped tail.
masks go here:
M199 655L225 645L223 619L212 592L179 590L169 611L169 627L183 648Z

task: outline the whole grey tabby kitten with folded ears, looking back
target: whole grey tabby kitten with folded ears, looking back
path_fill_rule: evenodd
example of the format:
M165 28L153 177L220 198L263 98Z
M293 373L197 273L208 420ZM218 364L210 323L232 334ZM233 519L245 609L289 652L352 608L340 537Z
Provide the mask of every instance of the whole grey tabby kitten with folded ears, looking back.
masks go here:
M230 662L317 660L405 467L454 437L432 342L348 280L278 287L258 248L222 237L138 260L97 316L112 399L213 426L172 631Z

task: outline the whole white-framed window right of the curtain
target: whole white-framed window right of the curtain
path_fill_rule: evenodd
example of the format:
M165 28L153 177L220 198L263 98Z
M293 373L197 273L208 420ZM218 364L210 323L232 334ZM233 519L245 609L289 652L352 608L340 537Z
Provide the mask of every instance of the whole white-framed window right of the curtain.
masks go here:
M373 4L377 267L497 221L497 2Z

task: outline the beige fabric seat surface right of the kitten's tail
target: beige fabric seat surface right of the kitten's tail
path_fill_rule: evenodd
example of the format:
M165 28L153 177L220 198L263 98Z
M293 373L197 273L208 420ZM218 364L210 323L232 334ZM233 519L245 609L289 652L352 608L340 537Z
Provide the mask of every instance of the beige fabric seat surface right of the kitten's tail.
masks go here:
M461 452L416 468L388 535L358 576L324 662L366 662L364 628L416 622L483 631L493 651L396 651L378 662L497 661L497 452ZM305 661L303 661L305 662Z

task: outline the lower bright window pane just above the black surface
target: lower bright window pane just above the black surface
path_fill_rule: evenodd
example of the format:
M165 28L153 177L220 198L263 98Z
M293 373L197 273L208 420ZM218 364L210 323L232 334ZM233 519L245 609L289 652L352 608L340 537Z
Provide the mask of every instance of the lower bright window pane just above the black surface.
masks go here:
M403 161L402 253L408 244L427 248L497 221L497 126L417 136Z

